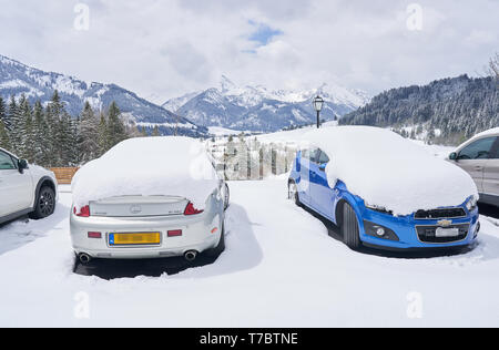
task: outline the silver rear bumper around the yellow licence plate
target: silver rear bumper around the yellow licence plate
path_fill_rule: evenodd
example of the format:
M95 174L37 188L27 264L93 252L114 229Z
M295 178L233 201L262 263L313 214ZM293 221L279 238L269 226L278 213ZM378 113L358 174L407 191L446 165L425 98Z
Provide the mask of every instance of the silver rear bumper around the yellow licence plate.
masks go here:
M78 217L71 215L70 228L73 249L92 258L139 259L182 256L186 251L216 247L220 241L223 217L203 213L163 217ZM169 237L169 230L182 230L182 236ZM101 233L102 238L89 238L88 233ZM213 231L213 233L212 233ZM161 233L161 243L151 246L111 246L110 234Z

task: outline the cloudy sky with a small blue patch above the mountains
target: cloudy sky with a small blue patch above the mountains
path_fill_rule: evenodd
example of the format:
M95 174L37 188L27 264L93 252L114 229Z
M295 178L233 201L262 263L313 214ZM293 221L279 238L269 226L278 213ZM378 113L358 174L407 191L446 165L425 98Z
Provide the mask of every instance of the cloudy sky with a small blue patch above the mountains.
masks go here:
M157 103L222 74L376 94L477 75L499 51L499 0L0 0L0 54Z

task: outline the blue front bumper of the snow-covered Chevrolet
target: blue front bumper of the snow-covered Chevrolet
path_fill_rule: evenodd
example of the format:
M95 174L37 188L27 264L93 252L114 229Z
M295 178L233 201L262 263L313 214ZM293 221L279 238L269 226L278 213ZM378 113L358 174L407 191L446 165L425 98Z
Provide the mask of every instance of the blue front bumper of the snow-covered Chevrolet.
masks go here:
M435 243L427 241L419 237L417 227L435 228L441 226L441 219L415 219L413 216L395 217L374 210L364 210L360 226L360 240L368 246L386 247L394 249L418 249L418 248L450 248L472 244L479 230L478 210L468 213L466 217L449 218L451 225L467 227L466 236L459 238L449 238L449 241ZM388 228L395 233L398 240L374 237L366 233L365 222Z

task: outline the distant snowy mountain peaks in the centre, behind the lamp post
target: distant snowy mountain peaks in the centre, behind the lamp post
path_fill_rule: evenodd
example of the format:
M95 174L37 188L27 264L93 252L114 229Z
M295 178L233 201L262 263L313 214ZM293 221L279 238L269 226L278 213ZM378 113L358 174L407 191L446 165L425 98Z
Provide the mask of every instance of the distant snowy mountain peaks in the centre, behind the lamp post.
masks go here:
M261 85L238 86L222 76L217 87L169 100L163 107L197 125L274 132L291 125L314 123L316 112L312 101L317 94L326 101L320 115L327 121L356 111L369 101L366 93L336 84L305 91L273 91Z

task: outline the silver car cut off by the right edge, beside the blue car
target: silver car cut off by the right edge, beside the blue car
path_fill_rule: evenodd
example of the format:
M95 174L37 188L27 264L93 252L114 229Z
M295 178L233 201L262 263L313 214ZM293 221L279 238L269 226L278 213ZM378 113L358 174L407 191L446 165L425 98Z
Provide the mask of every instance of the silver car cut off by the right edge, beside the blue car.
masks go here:
M499 206L499 127L464 143L449 159L471 175L480 202Z

